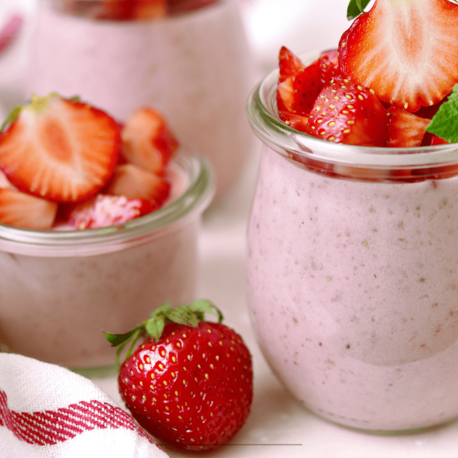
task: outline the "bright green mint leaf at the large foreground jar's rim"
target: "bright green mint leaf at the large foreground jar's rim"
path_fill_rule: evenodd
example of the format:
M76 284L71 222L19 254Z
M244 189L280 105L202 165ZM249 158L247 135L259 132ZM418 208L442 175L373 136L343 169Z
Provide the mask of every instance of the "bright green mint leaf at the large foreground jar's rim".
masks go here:
M458 84L437 110L426 130L450 143L458 141Z

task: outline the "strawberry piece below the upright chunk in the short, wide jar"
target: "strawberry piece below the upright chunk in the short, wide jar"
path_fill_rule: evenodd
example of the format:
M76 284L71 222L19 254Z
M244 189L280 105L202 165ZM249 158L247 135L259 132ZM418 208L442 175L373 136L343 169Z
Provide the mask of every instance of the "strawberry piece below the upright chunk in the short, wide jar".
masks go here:
M134 164L118 165L103 193L148 199L157 209L170 195L170 182Z

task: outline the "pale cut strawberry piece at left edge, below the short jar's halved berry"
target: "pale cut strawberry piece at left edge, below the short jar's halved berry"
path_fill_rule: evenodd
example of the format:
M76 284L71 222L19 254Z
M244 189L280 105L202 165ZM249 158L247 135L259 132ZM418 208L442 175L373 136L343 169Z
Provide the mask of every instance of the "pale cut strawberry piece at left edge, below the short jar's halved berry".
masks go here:
M25 229L48 230L58 204L11 188L0 188L0 222Z

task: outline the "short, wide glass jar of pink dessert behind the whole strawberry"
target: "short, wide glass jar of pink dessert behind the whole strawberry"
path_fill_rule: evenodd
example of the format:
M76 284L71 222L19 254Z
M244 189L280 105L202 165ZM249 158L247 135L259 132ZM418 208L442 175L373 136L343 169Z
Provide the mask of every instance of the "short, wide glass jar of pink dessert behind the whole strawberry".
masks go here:
M184 151L173 197L124 223L81 231L0 224L0 343L73 369L112 366L103 332L124 333L165 301L195 299L201 215L213 196L207 161Z

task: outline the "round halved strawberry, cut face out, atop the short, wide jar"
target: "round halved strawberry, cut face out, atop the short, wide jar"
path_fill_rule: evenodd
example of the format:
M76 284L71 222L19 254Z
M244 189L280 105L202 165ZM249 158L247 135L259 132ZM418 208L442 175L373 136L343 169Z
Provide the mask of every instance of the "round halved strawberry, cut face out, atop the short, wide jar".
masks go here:
M81 202L107 183L120 150L119 125L105 112L55 94L34 96L0 134L0 168L19 190Z

